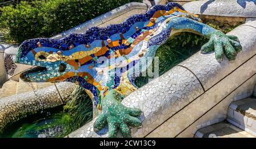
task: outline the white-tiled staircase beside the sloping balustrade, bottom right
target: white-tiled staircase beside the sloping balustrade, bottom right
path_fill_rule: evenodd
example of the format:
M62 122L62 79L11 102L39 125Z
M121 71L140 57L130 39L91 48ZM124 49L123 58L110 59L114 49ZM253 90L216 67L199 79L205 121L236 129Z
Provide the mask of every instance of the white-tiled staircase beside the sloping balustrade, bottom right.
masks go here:
M197 130L194 137L256 138L256 86L253 96L229 105L225 121Z

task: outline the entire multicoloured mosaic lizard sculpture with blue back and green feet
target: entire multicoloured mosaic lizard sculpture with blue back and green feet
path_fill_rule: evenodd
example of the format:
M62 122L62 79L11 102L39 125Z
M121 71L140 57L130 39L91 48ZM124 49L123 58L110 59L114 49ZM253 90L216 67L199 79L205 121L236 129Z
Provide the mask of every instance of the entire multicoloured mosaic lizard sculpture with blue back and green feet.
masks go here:
M63 39L31 39L19 48L17 63L38 66L20 75L27 82L73 82L83 87L93 101L95 129L109 126L109 137L118 130L131 137L129 126L140 126L142 111L121 104L121 96L135 91L134 67L142 58L154 57L158 47L180 32L209 38L201 53L215 52L217 61L233 61L242 46L236 36L227 36L189 14L177 3L151 7L145 14L130 16L121 24L89 28ZM141 69L141 72L144 71Z

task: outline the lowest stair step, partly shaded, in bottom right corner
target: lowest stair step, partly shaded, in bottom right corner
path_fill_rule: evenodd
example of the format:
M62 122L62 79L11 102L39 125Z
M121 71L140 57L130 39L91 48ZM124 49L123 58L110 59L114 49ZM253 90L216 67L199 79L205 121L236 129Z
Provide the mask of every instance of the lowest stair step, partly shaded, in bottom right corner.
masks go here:
M218 122L197 130L195 138L256 138L256 136L229 122Z

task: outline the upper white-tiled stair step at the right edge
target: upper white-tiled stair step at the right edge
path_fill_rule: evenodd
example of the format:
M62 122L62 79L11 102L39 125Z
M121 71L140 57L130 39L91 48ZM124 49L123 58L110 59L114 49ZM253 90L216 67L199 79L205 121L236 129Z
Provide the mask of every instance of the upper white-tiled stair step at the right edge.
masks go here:
M232 102L229 105L227 120L256 135L256 98L248 97Z

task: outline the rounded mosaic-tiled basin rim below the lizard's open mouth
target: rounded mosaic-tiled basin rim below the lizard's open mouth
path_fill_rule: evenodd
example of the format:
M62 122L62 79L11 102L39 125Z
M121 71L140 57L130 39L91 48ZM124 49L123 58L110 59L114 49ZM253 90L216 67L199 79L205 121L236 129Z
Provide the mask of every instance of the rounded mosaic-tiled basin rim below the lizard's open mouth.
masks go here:
M74 83L61 82L41 90L29 91L0 100L0 133L6 126L40 110L63 105L75 89Z

